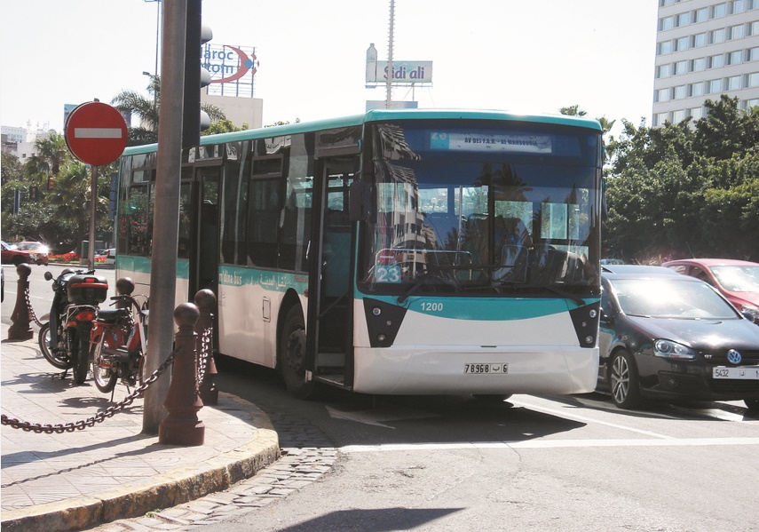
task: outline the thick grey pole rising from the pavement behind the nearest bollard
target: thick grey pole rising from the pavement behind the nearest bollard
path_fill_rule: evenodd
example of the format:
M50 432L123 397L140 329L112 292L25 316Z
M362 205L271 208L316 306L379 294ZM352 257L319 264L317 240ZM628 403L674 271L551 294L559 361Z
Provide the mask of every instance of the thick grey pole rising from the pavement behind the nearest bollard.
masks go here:
M187 3L185 0L164 0L163 4L161 109L155 177L147 375L158 369L171 353L174 340L174 298L177 288ZM163 402L169 393L169 385L170 374L167 371L147 388L142 419L143 433L158 433L159 425L168 414L163 408Z

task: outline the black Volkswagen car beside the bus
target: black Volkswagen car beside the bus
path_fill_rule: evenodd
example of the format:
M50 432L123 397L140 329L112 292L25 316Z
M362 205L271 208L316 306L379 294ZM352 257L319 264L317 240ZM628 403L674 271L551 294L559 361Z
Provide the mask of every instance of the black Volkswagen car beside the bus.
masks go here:
M755 324L699 279L623 270L601 274L597 389L622 409L660 399L759 410Z

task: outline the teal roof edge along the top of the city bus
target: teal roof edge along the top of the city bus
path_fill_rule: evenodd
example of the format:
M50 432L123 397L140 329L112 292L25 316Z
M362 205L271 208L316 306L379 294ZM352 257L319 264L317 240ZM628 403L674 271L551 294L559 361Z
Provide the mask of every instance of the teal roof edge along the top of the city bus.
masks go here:
M502 120L507 122L545 123L568 125L601 131L601 124L596 120L573 115L518 115L507 111L477 110L477 109L373 109L363 115L343 116L314 120L312 122L287 123L255 130L231 131L217 135L201 137L201 146L224 142L235 142L246 139L281 137L307 131L319 131L339 127L360 125L370 122L385 122L389 120ZM127 147L123 155L138 155L154 152L156 144Z

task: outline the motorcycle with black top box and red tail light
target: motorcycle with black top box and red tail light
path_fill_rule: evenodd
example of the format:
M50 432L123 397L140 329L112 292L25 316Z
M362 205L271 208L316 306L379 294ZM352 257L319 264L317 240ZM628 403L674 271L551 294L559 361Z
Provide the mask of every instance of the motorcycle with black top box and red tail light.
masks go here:
M66 268L53 280L50 272L44 278L52 281L49 322L40 328L38 343L44 358L58 369L73 369L74 382L83 384L90 367L90 333L97 317L99 304L106 300L108 282L95 275L95 270L83 272Z

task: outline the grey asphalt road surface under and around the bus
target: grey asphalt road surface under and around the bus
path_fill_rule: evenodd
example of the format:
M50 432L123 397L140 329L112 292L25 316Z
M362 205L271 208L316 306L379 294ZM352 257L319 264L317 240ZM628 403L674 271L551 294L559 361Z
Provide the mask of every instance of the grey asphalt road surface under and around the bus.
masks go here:
M32 305L43 314L50 283L44 266L32 269ZM9 270L3 320L15 300ZM338 450L320 480L224 519L225 531L738 532L759 523L759 417L742 401L623 411L596 393L487 403L337 390L298 401L271 369L217 366L220 390L312 427ZM179 529L195 528L204 527Z

